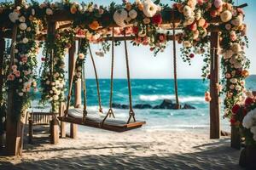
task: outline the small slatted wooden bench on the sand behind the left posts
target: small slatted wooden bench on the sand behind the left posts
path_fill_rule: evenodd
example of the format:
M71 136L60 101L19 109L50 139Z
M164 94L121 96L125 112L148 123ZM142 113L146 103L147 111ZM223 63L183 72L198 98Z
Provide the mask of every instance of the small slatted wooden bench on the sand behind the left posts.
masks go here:
M33 126L50 125L52 121L52 113L49 112L32 112L28 119L28 142L32 144Z

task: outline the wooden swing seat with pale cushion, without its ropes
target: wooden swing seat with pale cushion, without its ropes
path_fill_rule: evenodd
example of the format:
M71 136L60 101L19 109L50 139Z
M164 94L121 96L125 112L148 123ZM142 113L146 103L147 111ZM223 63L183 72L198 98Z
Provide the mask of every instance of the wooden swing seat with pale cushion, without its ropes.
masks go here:
M65 116L58 117L61 122L69 122L69 123L79 124L87 127L102 128L104 130L109 130L109 131L119 132L119 133L142 127L143 124L146 123L141 121L127 123L125 121L108 118L101 127L100 125L101 125L102 119L105 116L105 115L101 116L100 114L102 113L98 113L97 111L89 111L88 115L85 117L85 122L83 122L83 109L81 108L69 109L67 113L68 114L66 117Z

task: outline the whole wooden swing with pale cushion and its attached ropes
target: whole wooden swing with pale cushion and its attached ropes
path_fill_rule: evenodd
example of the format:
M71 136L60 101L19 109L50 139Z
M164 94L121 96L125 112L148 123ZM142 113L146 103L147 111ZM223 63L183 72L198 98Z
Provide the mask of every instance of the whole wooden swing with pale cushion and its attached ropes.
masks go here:
M113 33L113 32L112 32ZM74 108L70 109L70 100L72 96L72 87L73 87L73 75L74 75L74 69L72 71L71 75L71 81L69 83L69 92L68 92L68 98L67 98L67 109L65 111L64 116L59 117L59 120L61 122L70 122L74 124L84 125L87 127L96 127L96 128L102 128L105 130L113 131L113 132L125 132L131 129L135 129L138 127L142 127L143 124L146 122L140 122L136 121L135 119L135 113L132 110L132 101L131 101L131 81L130 81L130 69L129 69L129 60L128 60L128 50L127 50L127 42L126 42L126 35L124 31L124 39L125 39L125 61L126 61L126 71L127 71L127 82L128 82L128 89L129 89L129 104L130 104L130 111L129 111L129 118L128 121L121 121L116 119L108 119L108 116L114 117L113 109L112 109L112 101L113 101L113 57L114 57L114 35L112 36L112 62L111 62L111 84L110 84L110 97L109 97L109 110L107 115L102 119L102 117L97 114L95 111L88 112L86 109L86 87L85 87L85 74L84 74L84 64L83 64L83 72L82 72L82 83L83 83L83 92L84 92L84 108ZM90 57L93 61L91 49L89 46L90 51ZM94 69L96 71L96 66L93 61ZM96 82L97 82L97 88L98 88L98 101L101 102L100 99L100 93L99 93L99 85L96 75ZM100 105L100 112L102 112L102 107ZM83 116L81 116L83 115ZM131 122L131 118L133 119L133 122Z

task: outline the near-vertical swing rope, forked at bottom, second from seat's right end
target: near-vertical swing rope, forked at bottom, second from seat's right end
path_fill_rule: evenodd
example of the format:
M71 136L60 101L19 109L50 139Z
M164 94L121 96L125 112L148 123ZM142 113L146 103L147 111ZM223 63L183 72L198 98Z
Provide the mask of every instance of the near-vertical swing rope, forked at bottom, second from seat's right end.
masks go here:
M113 118L115 118L114 114L113 114L113 109L112 109L112 102L113 102L113 59L114 59L114 34L113 34L113 29L112 29L112 54L111 54L111 79L110 79L110 95L109 95L109 110L107 115L104 117L104 119L102 120L101 123L101 127L104 124L104 122L106 121L106 119L111 116L113 116Z

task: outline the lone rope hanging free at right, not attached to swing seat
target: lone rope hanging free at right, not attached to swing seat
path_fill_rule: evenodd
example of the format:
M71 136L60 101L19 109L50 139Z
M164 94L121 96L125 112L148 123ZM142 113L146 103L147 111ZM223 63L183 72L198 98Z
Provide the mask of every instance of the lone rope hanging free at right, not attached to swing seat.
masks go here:
M175 23L172 23L172 34L173 34L173 69L174 69L174 88L175 88L175 98L176 98L176 109L180 108L177 94L177 53L176 53L176 33L175 33Z

